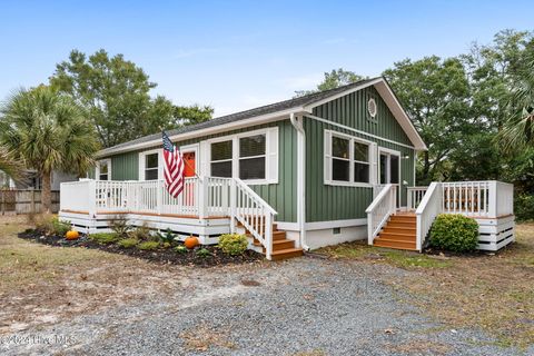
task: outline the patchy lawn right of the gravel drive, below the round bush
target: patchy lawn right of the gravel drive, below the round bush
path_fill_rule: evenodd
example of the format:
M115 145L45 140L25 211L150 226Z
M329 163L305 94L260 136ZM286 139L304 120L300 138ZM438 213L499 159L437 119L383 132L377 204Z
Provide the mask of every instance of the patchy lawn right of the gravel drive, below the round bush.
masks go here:
M416 296L411 303L454 327L481 327L503 345L534 344L534 224L516 226L516 243L496 254L469 257L342 244L317 250L332 258L390 264L411 270L388 278Z

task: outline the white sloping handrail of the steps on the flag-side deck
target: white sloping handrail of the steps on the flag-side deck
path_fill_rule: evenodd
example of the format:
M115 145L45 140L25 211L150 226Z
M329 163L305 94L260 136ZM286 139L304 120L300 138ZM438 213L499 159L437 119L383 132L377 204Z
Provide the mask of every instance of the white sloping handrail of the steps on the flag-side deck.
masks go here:
M273 256L273 224L278 214L241 179L233 178L230 192L230 226L235 220L241 225L265 247L265 257Z

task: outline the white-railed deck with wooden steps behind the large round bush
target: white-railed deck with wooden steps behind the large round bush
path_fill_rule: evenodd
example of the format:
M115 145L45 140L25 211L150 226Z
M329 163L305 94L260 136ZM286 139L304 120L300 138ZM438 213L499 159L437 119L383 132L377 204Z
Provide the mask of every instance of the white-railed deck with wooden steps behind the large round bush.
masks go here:
M397 207L397 185L386 185L367 208L368 244L422 251L439 214L462 214L478 224L478 249L496 251L514 240L514 187L496 180L432 182L407 188Z

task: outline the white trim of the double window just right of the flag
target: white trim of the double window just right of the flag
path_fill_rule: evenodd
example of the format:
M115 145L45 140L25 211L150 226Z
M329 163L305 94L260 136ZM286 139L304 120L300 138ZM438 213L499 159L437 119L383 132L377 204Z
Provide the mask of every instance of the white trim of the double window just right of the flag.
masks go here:
M254 131L246 131L236 135L228 135L222 137L212 138L206 140L206 166L207 166L207 174L211 176L211 144L222 142L222 141L233 141L231 146L231 175L234 178L239 178L239 139L244 137L257 136L257 135L265 135L265 155L255 156L255 157L264 157L265 156L265 179L246 179L243 180L247 185L250 186L259 186L259 185L275 185L278 184L278 165L279 165L279 139L278 139L278 127L265 128ZM275 145L273 147L273 145ZM244 157L243 159L250 159L255 157ZM275 164L271 166L271 160ZM220 160L222 161L222 160ZM225 160L226 161L226 160Z

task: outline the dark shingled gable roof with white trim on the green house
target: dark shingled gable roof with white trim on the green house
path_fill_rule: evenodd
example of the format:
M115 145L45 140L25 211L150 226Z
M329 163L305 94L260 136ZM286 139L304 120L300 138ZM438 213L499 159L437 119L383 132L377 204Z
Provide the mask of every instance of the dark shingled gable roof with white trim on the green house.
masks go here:
M335 89L319 91L319 92L261 106L261 107L245 110L245 111L221 116L205 122L169 130L167 131L167 135L171 140L176 141L178 139L181 140L181 139L187 139L191 137L215 134L219 131L227 131L237 125L245 125L245 123L258 125L263 122L268 122L271 120L279 119L284 116L288 116L291 112L294 113L312 112L312 109L316 106L319 106L324 102L346 96L350 92L360 90L372 85L376 87L379 95L384 98L389 110L393 112L397 121L399 121L400 126L408 135L408 138L414 144L414 147L418 150L426 150L426 146L423 142L423 139L421 138L421 136L417 134L417 130L413 126L412 120L408 118L408 116L402 108L400 103L398 102L397 98L395 97L393 90L390 89L389 85L383 77L359 80L354 83L349 83ZM386 88L383 88L384 86ZM386 100L385 96L389 97L388 98L389 100ZM119 144L110 148L106 148L103 150L100 150L97 154L97 156L103 157L111 154L154 147L160 144L160 141L161 141L161 134L158 132L158 134L145 136L128 142Z

